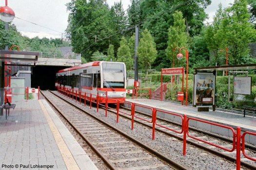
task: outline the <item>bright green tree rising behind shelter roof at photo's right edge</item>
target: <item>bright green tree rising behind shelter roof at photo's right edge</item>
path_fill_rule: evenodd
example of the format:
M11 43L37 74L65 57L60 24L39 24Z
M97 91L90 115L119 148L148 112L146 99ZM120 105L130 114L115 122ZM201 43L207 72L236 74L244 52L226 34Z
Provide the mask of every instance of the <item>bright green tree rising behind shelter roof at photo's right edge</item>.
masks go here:
M220 49L229 48L229 64L245 64L250 60L248 44L256 40L256 30L249 22L251 14L247 5L247 0L235 0L225 10L228 17L221 20L215 35L221 38Z

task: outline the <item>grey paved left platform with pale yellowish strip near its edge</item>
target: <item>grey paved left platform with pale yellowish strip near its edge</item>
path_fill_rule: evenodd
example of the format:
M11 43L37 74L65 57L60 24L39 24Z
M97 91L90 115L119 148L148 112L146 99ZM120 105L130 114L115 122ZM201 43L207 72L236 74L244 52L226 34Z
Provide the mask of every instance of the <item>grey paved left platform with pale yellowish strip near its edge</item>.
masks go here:
M45 100L0 116L0 170L13 169L98 170Z

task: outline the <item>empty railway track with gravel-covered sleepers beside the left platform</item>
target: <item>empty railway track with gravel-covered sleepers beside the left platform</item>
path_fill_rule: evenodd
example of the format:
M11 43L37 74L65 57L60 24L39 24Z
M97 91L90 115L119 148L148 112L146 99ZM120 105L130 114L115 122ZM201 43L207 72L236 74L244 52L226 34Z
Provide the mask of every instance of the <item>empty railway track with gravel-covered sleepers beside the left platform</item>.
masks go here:
M58 95L41 94L112 170L188 169Z

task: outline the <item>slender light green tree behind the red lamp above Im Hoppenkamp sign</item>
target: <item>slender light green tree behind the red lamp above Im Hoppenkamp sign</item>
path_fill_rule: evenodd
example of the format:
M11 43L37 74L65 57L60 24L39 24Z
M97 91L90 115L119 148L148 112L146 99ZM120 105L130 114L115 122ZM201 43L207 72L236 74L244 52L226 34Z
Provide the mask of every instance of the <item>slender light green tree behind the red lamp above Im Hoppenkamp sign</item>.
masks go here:
M184 62L177 59L177 54L181 47L188 47L186 25L185 19L180 11L175 11L173 17L174 24L170 26L168 31L168 47L166 49L166 56L172 63L174 59L175 67L180 67L184 65ZM182 53L185 56L185 51L182 50Z

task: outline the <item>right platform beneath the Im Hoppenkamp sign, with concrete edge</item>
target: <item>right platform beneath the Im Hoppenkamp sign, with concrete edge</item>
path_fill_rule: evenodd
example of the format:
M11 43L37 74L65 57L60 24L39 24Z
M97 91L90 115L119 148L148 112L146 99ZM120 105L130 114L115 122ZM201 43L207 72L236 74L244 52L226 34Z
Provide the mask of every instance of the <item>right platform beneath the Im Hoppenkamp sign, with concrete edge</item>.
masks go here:
M249 131L249 132L254 132L256 133L256 118L253 117L243 117L242 115L238 114L232 114L229 112L222 112L222 111L212 111L210 110L209 112L197 112L196 107L192 106L185 106L181 104L175 104L171 102L161 102L157 100L149 100L149 99L126 99L127 102L134 102L140 105L152 107L152 108L157 108L160 110L164 110L167 112L172 112L176 113L179 115L187 115L187 117L192 117L196 119L202 119L206 121L211 121L214 123L226 125L229 127L234 128L236 131L236 127L241 127L241 133ZM129 104L125 104L126 107L129 107ZM146 108L136 108L136 110L141 111L141 112L148 112L149 109ZM170 119L173 121L179 121L180 118L175 118L172 117L168 114L158 114L158 117L165 118L165 119ZM181 121L180 121L181 122ZM206 123L201 123L198 121L190 121L189 122L190 126L197 127L203 130L207 130L213 133L217 133L223 136L233 136L233 133L231 133L230 130L220 128L217 126L209 125ZM245 137L245 140L249 143L252 143L256 145L256 136L251 136L249 135L248 137Z

